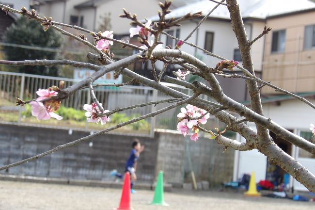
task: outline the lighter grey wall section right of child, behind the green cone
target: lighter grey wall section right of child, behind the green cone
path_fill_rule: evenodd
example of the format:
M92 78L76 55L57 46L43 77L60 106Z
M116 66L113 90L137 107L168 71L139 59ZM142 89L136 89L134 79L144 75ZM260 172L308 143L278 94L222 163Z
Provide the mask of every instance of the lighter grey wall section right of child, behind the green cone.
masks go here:
M184 138L177 133L158 134L156 173L163 170L167 182L191 182L189 156L197 181L206 180L210 186L217 186L232 180L234 150L228 149L222 153L222 145L204 137L193 142L189 136Z

